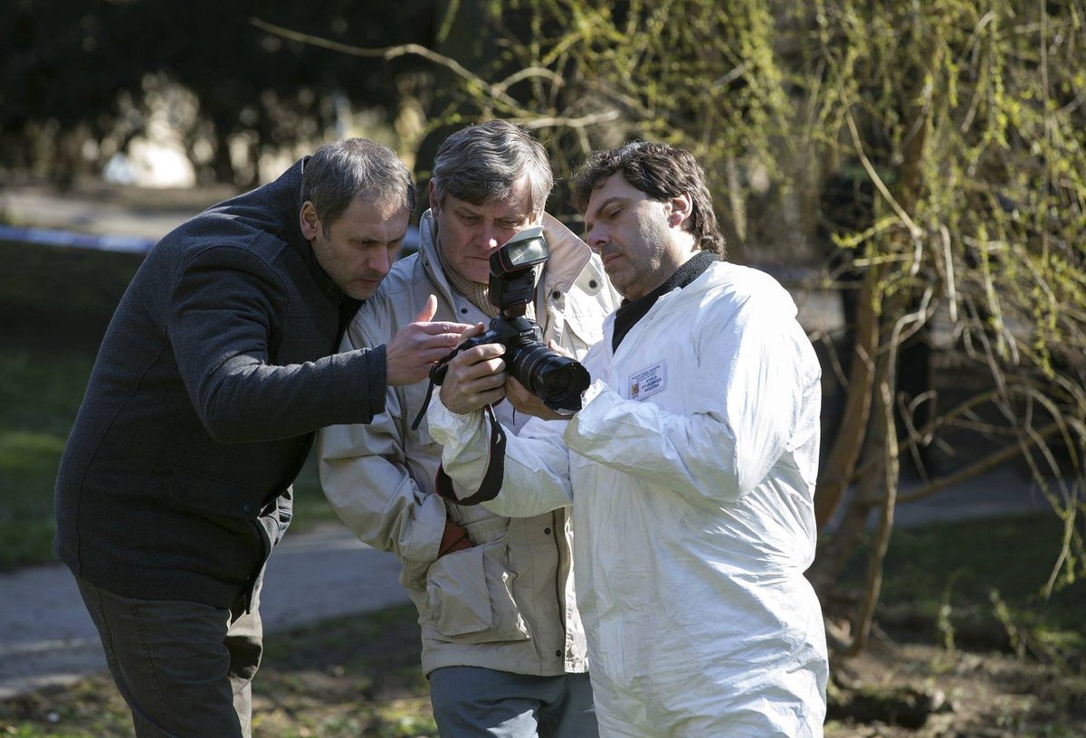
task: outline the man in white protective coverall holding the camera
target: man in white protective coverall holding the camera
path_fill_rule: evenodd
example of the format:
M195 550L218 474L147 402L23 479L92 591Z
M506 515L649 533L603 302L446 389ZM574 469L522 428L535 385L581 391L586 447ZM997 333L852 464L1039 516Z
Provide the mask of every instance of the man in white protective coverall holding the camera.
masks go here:
M583 407L553 422L502 346L460 354L428 412L454 494L497 495L485 506L510 517L572 506L601 735L821 736L825 635L804 577L821 372L795 305L721 260L685 151L596 152L574 200L626 297L584 359ZM504 455L479 409L503 394L542 418ZM497 494L484 471L502 461Z

